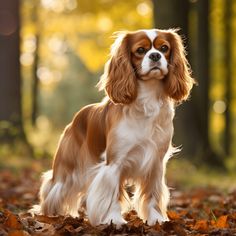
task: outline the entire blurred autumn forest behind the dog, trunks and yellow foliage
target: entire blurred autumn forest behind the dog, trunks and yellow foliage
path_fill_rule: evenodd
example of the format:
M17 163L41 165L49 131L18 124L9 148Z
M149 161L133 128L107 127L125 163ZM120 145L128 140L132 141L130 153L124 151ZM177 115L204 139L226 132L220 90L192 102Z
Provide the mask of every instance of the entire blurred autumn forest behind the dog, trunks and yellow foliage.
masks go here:
M234 0L1 1L0 169L50 163L74 113L104 95L95 85L112 33L154 27L180 28L198 81L177 107L174 144L183 148L170 178L235 178Z

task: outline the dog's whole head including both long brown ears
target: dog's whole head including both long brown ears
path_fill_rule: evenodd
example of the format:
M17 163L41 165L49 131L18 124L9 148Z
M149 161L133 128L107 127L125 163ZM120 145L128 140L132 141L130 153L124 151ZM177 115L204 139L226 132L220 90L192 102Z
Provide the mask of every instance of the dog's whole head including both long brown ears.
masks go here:
M130 104L138 93L138 80L161 80L166 95L187 99L194 80L181 37L175 30L122 32L111 48L111 58L99 83L114 103Z

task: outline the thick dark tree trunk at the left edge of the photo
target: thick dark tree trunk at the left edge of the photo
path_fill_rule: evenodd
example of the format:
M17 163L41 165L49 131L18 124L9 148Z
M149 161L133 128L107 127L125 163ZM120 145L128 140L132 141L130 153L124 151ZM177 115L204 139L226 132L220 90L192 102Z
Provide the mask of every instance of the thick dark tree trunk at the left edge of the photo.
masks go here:
M24 139L20 79L19 1L0 3L0 140Z

